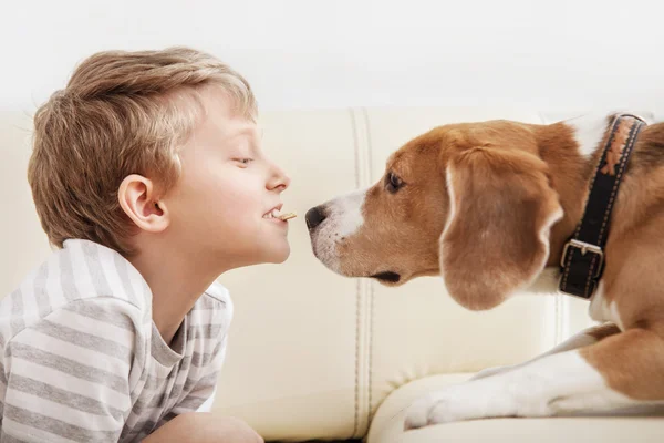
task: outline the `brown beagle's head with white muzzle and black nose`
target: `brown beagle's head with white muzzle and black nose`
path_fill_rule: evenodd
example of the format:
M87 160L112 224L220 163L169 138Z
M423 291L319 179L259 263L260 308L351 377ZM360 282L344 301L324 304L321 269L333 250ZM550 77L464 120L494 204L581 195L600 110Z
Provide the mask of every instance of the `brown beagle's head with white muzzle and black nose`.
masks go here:
M561 216L533 130L496 121L412 140L376 184L310 209L307 224L314 255L341 275L440 274L460 305L489 309L543 269Z

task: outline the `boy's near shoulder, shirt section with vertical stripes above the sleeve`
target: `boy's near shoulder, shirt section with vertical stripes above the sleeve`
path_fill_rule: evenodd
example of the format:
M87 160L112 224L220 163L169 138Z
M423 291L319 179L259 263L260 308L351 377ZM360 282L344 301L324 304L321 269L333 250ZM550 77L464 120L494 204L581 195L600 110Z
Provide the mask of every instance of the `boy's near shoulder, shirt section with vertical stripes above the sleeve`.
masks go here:
M136 323L149 324L152 293L120 254L93 241L72 239L0 300L0 333L7 342L63 310L86 317L116 311Z

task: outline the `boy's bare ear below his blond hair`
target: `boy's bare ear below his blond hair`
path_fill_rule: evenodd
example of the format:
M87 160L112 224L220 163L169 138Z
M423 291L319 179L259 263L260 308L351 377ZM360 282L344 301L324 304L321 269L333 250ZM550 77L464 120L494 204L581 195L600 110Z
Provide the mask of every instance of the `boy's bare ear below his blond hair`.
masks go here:
M169 214L164 202L159 202L149 178L138 174L126 176L118 188L120 206L141 229L147 233L162 233L169 223Z

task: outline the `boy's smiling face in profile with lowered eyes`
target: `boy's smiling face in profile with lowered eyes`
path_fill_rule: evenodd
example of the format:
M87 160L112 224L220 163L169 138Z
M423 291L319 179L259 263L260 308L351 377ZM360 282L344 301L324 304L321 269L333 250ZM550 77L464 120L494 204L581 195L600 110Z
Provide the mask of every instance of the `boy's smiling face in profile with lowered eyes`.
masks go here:
M270 216L290 178L261 151L257 125L231 113L222 92L201 91L207 114L180 151L181 176L165 196L170 235L195 260L226 268L282 262L288 222Z

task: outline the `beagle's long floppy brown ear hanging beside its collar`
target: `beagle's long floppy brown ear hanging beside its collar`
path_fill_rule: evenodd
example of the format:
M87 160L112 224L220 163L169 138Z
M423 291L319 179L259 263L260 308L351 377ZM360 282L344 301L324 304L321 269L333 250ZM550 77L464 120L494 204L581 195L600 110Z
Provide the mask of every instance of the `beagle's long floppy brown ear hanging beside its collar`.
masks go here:
M546 266L549 231L562 217L547 164L517 148L474 147L447 161L449 213L440 272L461 306L490 309Z

